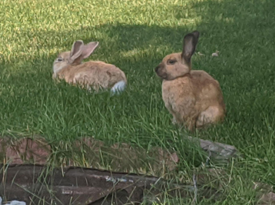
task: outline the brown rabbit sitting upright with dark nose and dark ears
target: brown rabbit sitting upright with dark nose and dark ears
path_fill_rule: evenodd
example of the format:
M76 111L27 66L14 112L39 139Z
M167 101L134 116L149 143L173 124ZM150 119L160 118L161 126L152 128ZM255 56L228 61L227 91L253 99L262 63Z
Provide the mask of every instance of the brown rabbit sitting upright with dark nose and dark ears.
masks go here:
M225 115L219 82L205 71L191 71L199 35L199 31L185 35L182 52L167 55L155 68L163 79L162 97L173 122L183 123L189 130L222 121Z

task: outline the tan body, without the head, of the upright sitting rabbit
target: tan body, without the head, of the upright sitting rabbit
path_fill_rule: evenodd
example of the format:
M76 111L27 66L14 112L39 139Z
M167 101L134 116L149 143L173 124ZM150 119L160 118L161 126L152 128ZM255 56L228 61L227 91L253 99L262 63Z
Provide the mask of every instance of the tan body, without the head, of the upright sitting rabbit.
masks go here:
M225 104L218 81L205 71L192 70L174 80L163 80L162 97L174 121L190 130L223 119Z

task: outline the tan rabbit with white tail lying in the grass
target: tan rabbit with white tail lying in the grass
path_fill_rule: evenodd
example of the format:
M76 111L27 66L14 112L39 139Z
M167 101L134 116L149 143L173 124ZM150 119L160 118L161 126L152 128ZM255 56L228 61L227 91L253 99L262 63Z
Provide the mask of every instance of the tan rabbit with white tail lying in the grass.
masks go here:
M99 42L84 45L82 40L73 43L71 51L59 53L53 62L53 79L64 79L70 84L78 84L82 88L96 91L111 88L111 92L123 91L127 86L127 79L122 70L115 65L102 61L82 60L89 57Z

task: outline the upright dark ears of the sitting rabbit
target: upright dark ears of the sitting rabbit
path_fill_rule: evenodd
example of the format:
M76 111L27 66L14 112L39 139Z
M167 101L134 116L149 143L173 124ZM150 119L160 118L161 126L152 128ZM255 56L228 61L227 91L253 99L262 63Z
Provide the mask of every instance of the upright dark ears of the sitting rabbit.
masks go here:
M199 31L193 31L192 33L186 34L184 36L182 58L184 58L188 63L190 62L191 57L195 52L199 36Z

